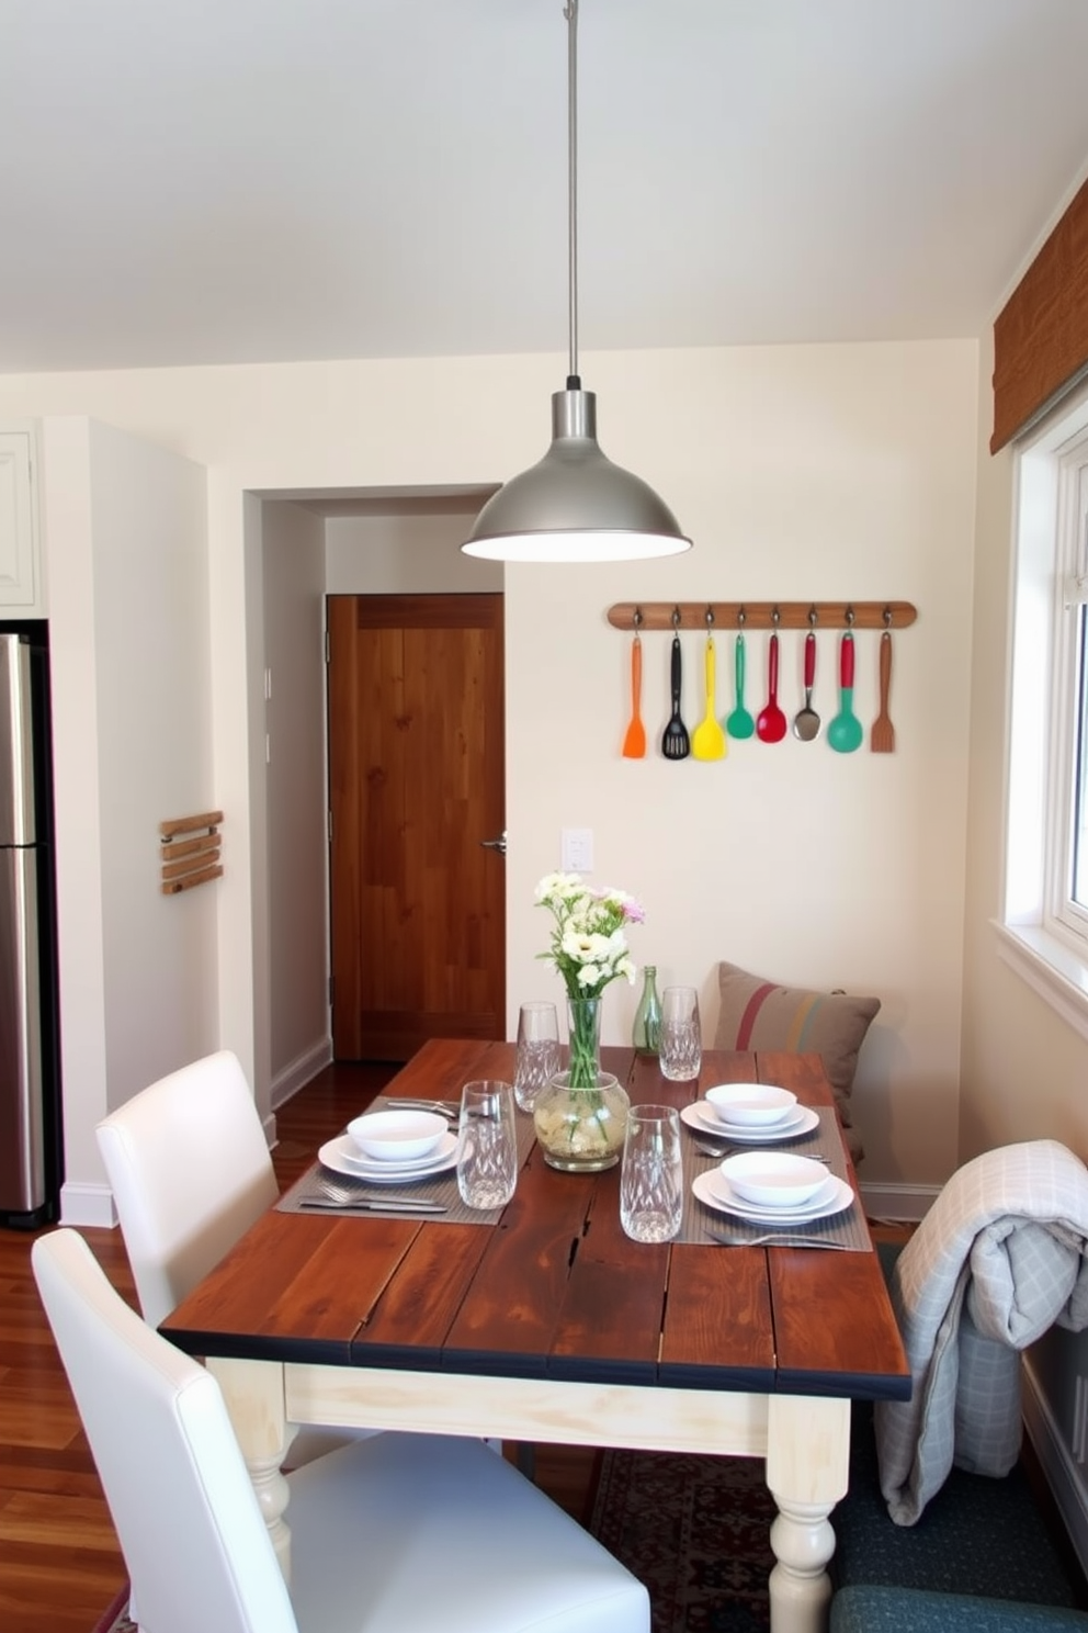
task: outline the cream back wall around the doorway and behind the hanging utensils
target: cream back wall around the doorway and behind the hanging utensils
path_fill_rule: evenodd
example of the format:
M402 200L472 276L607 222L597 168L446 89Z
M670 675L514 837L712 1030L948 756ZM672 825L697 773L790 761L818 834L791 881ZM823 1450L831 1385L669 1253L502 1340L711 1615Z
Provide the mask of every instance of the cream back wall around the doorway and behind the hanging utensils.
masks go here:
M974 343L587 358L605 451L662 492L697 549L672 563L506 573L511 1011L542 990L532 885L558 861L561 825L592 826L597 877L646 900L636 957L700 983L708 1030L723 955L882 998L858 1078L866 1179L938 1181L956 1161L975 374ZM501 480L543 452L558 384L548 358L0 379L0 413L93 413L210 467L215 781L246 830L219 897L220 1032L264 1110L264 635L245 495ZM714 594L915 601L918 624L896 647L899 751L845 758L789 738L736 745L719 766L621 761L626 642L605 607ZM860 648L871 719L874 640ZM783 652L788 709L798 652ZM646 656L659 730L664 639L648 639ZM692 715L697 637L687 656ZM750 658L759 692L762 640ZM816 704L834 709L829 640ZM626 1034L631 1003L610 998L608 1037Z

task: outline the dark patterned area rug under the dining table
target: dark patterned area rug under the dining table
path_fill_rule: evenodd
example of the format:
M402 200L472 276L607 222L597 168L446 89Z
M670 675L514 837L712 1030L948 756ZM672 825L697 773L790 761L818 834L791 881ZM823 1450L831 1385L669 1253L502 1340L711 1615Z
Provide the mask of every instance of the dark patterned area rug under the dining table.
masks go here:
M649 1589L652 1633L768 1633L773 1517L759 1458L605 1452L589 1530Z

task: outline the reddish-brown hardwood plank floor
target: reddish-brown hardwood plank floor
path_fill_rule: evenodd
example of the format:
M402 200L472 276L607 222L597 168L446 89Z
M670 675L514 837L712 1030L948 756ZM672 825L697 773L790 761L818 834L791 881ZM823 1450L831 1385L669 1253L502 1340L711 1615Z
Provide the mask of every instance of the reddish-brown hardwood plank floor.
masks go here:
M329 1066L277 1112L272 1163L292 1184L320 1145L395 1068ZM83 1230L135 1308L119 1230ZM90 1633L126 1579L124 1561L29 1266L34 1233L0 1230L0 1628ZM535 1478L581 1517L594 1453L538 1447Z

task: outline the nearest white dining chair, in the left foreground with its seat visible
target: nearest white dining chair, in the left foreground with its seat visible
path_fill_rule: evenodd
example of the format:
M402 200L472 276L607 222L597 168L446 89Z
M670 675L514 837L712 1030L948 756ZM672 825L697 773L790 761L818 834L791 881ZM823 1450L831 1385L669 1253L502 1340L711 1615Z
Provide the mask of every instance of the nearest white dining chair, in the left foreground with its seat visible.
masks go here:
M377 1434L289 1475L289 1591L214 1377L77 1231L31 1262L148 1633L648 1633L643 1584L471 1439Z

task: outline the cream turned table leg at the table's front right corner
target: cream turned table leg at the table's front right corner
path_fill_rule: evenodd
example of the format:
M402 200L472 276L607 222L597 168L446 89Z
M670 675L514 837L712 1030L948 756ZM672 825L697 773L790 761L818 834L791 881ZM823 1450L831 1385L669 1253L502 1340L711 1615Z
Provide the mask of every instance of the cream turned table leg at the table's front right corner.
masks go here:
M772 1395L767 1484L778 1504L770 1545L772 1633L824 1633L835 1551L830 1511L847 1493L850 1401Z

